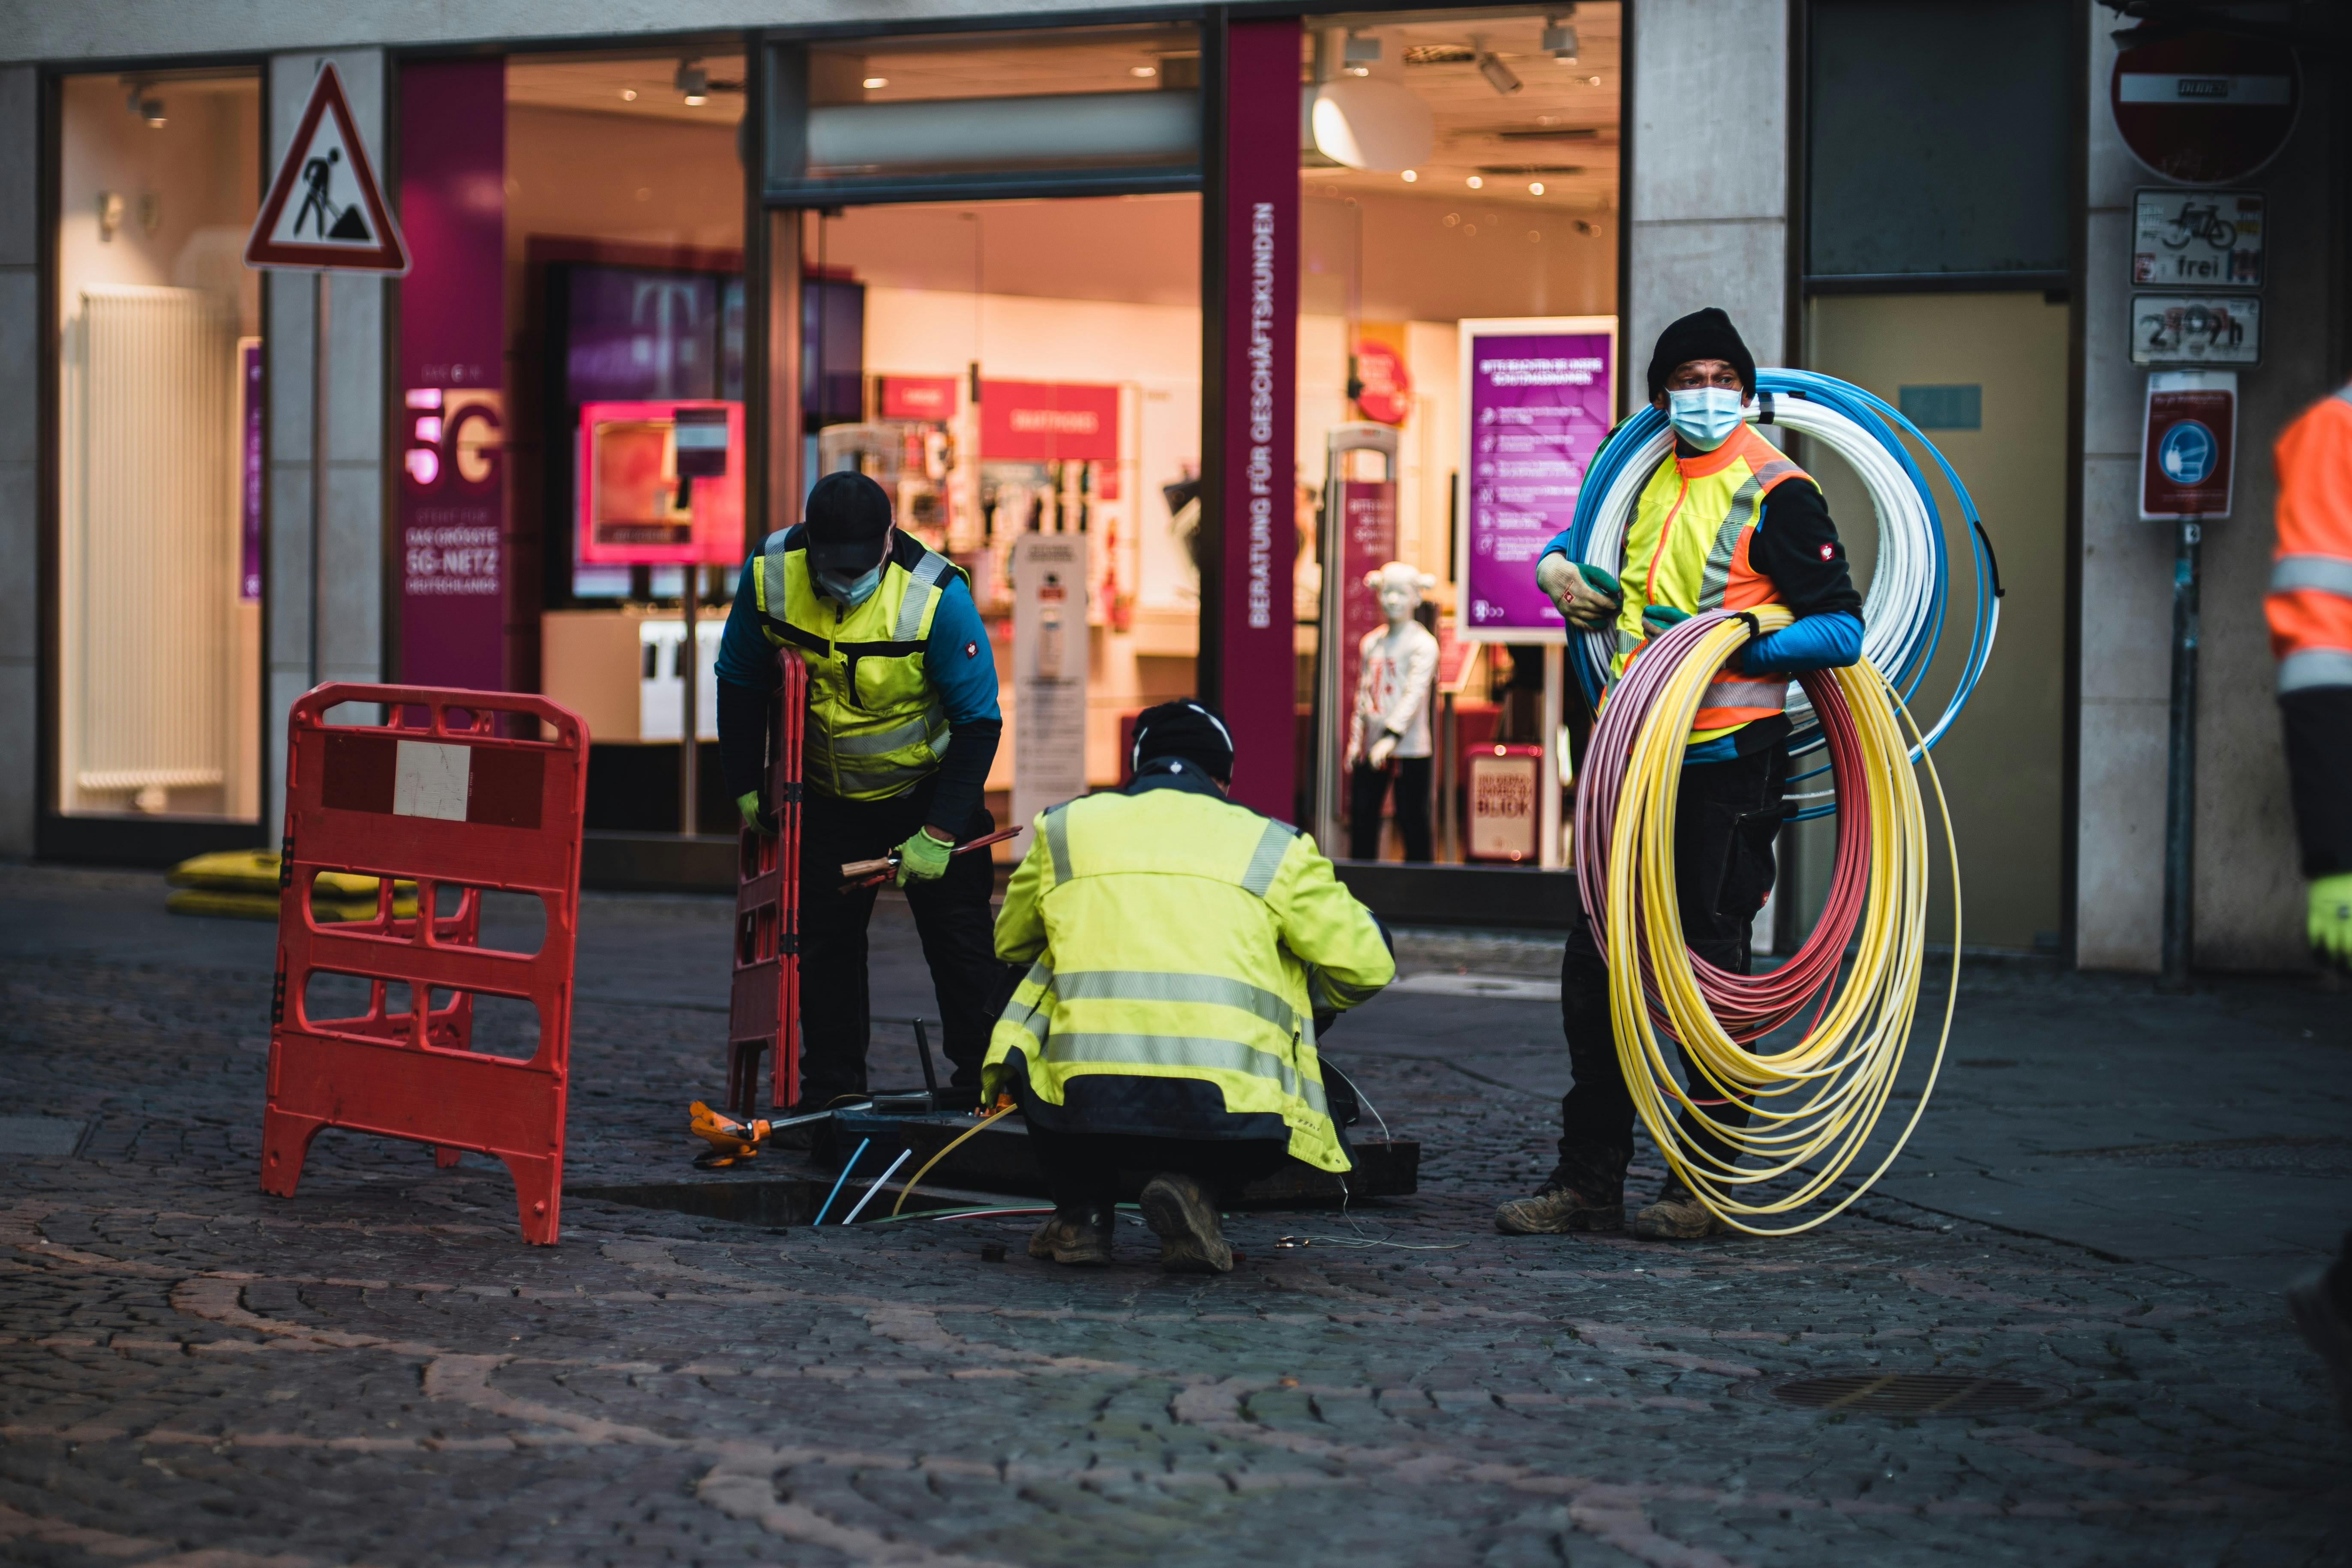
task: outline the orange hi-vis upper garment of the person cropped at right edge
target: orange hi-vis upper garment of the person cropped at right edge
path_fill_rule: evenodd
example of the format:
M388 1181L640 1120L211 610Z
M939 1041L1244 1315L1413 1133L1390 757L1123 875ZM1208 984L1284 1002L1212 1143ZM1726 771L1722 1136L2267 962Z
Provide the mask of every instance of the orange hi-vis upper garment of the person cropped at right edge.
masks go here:
M2272 461L2279 550L2263 609L2279 693L2352 686L2352 386L2286 425Z

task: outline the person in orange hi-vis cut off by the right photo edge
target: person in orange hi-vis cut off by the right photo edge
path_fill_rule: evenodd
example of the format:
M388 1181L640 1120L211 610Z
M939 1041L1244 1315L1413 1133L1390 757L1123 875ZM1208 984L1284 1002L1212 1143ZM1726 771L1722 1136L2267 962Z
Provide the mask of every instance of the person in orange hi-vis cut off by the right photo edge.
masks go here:
M2286 425L2272 458L2279 548L2265 609L2310 879L2305 931L2321 964L2352 969L2352 383ZM2352 1234L2336 1265L2286 1300L2352 1420Z

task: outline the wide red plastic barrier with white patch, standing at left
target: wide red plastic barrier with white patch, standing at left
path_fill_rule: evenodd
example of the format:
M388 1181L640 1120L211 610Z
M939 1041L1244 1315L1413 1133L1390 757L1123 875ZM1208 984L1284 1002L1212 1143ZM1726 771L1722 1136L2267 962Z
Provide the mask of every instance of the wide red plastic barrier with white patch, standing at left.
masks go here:
M388 724L327 724L339 703L383 703ZM508 729L555 741L513 741ZM322 1126L496 1154L515 1178L522 1234L555 1246L579 940L588 726L539 696L437 686L329 684L287 719L287 837L278 872L278 990L261 1114L261 1190L294 1197ZM383 877L376 917L320 924L315 872ZM393 917L393 877L416 882L416 914ZM456 907L435 914L440 889ZM482 889L546 907L536 954L480 945ZM358 976L369 1004L313 1018L313 973ZM393 992L405 990L397 999ZM433 992L447 990L445 1006ZM473 994L539 1013L529 1060L473 1051Z

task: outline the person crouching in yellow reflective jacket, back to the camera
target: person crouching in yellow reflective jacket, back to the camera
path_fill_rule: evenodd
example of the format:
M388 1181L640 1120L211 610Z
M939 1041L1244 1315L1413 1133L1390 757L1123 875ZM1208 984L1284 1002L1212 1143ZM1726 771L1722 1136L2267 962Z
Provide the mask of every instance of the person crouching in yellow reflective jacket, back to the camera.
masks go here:
M1284 1154L1348 1171L1315 1013L1397 976L1315 842L1225 799L1232 736L1200 703L1136 719L1131 785L1037 816L997 914L1028 964L988 1041L1054 1194L1033 1258L1110 1262L1120 1171L1148 1171L1160 1265L1223 1274L1218 1199Z

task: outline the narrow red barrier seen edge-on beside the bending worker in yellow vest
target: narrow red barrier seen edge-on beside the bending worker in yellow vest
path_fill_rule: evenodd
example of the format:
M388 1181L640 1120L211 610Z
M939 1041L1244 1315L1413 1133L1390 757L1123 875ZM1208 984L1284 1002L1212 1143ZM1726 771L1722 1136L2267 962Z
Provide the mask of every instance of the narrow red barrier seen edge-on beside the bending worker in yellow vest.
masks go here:
M776 654L767 710L767 799L776 832L743 830L736 851L734 992L727 999L727 1110L760 1114L760 1058L774 1051L769 1103L800 1098L800 722L809 670Z

